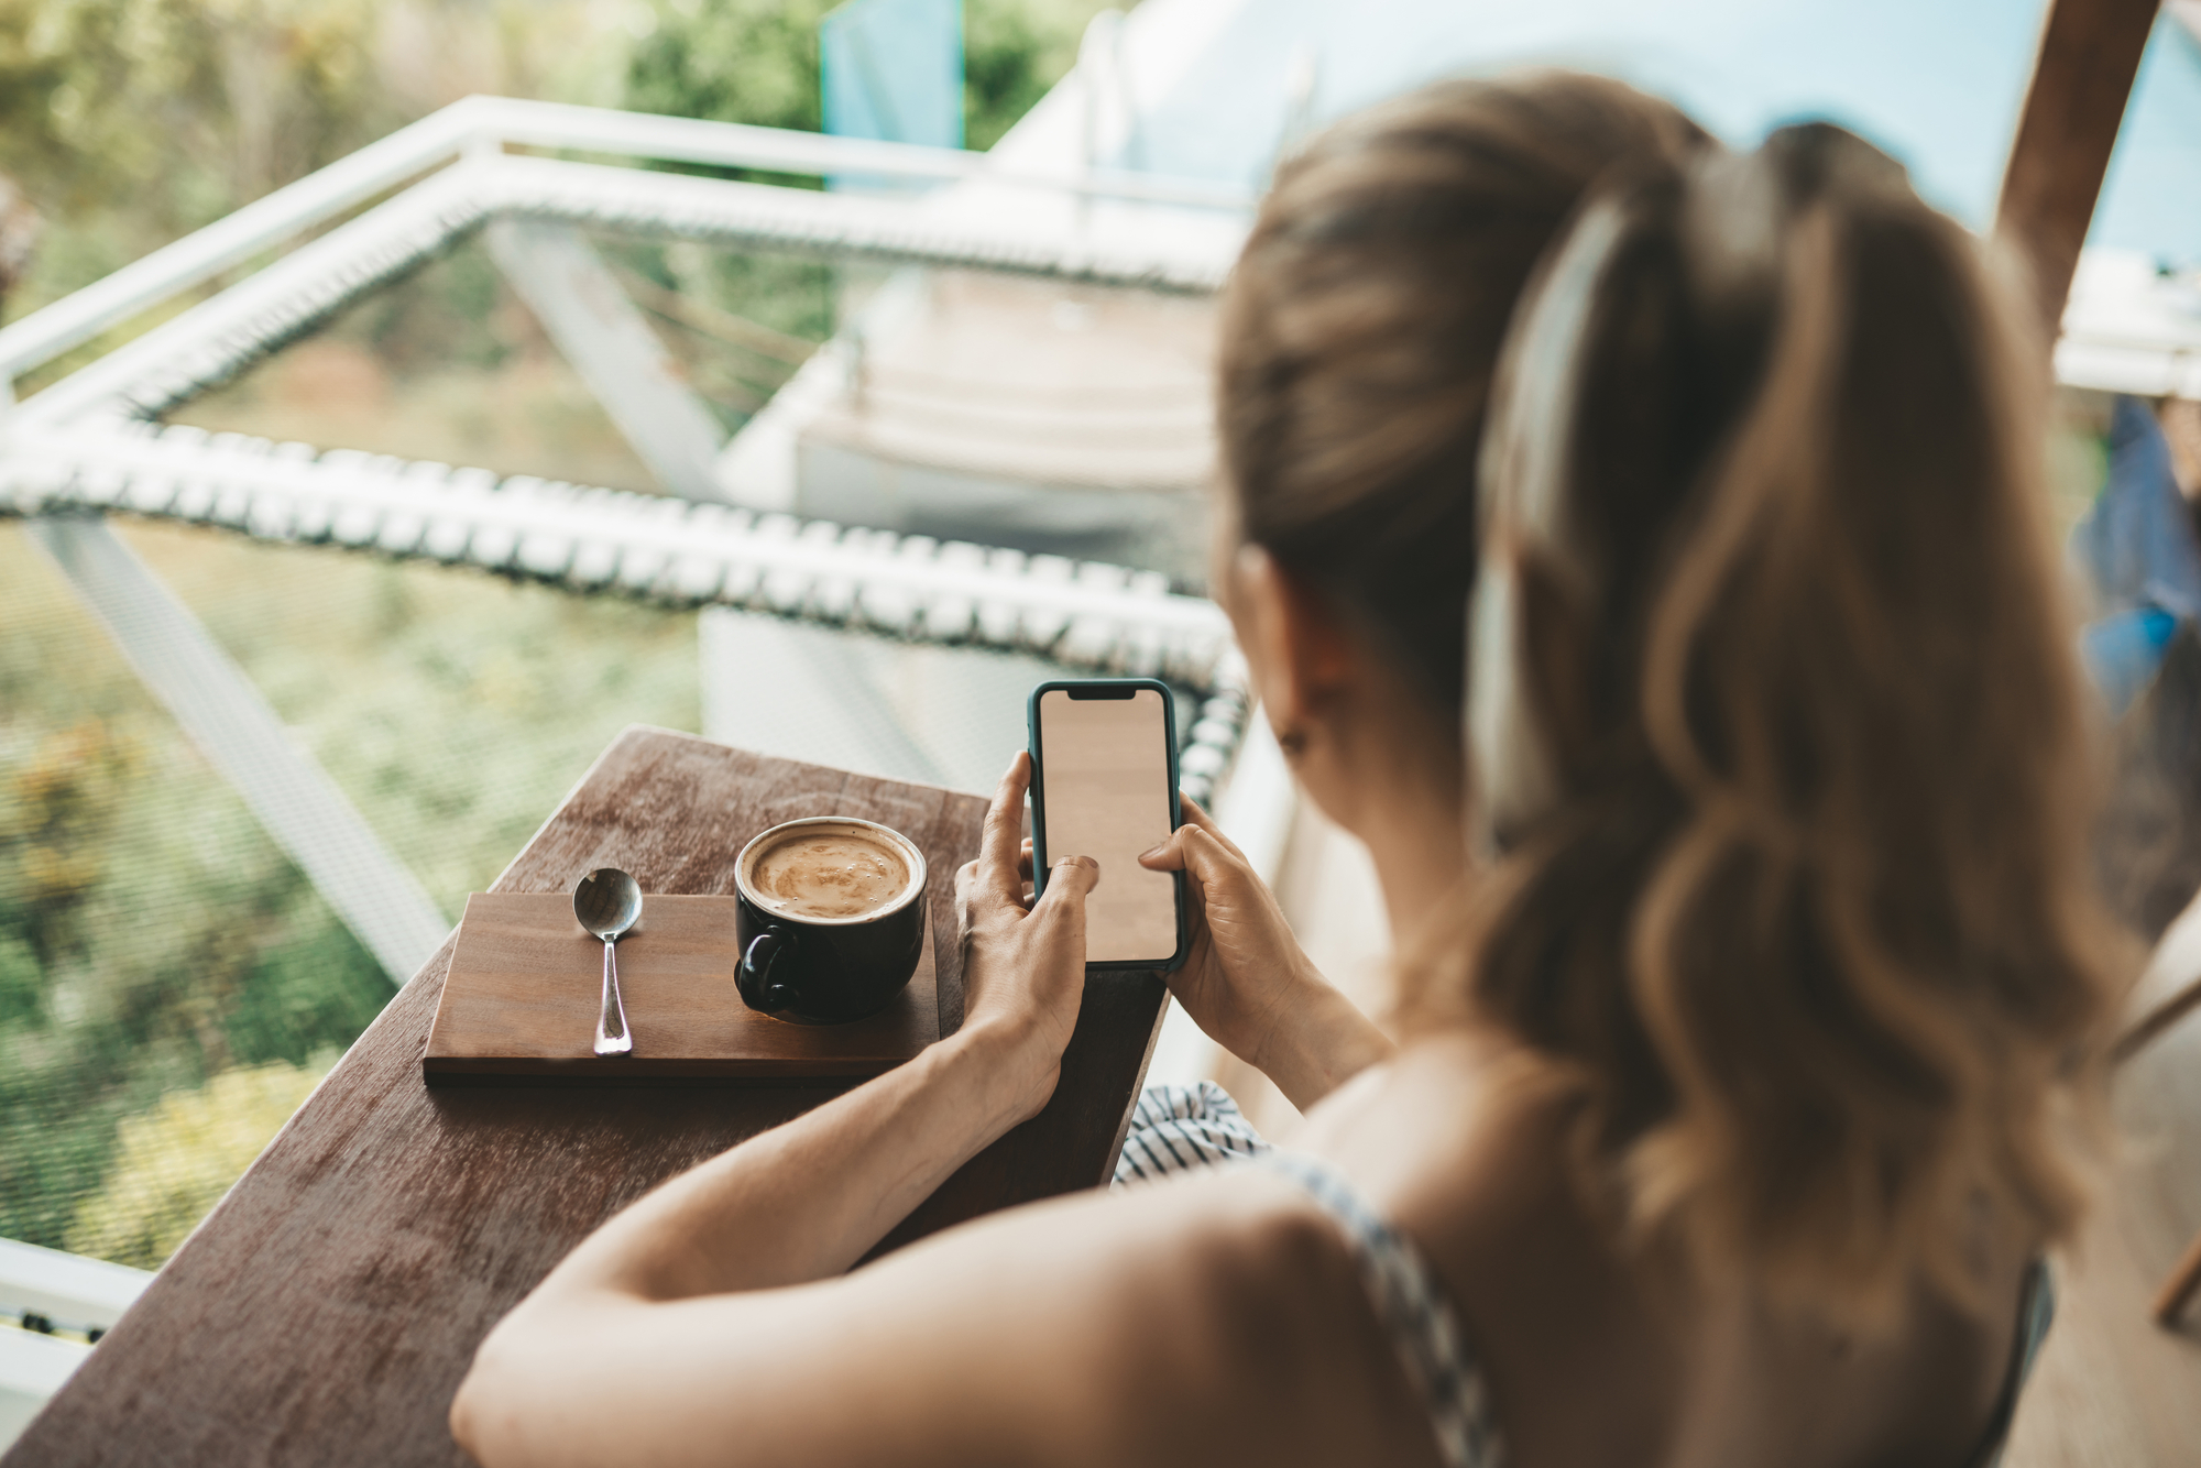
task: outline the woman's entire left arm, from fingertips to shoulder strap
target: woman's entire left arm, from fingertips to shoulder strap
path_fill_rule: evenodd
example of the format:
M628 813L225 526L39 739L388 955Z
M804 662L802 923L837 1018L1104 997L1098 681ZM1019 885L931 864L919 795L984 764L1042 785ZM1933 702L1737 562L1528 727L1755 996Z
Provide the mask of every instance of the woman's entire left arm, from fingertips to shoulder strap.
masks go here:
M1017 1208L843 1274L1054 1089L1096 869L1023 909L1023 786L1019 757L957 876L962 1030L583 1241L460 1384L475 1459L1426 1461L1343 1239L1274 1175Z

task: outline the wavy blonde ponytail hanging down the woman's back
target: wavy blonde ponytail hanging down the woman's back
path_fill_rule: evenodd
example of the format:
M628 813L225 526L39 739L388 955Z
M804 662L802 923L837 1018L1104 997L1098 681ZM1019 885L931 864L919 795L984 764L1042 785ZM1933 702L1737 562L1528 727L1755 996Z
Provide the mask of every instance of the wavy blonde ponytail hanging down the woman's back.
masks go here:
M1633 1237L1860 1327L2069 1233L2124 962L2014 302L1789 128L1594 191L1483 436L1492 861L1411 1006L1574 1081Z

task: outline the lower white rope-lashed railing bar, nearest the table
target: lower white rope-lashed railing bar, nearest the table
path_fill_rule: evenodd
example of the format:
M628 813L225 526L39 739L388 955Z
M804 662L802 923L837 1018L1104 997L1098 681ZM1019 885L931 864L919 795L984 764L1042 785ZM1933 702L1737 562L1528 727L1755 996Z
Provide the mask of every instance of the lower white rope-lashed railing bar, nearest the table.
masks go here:
M755 515L632 491L315 453L128 423L20 427L0 508L128 511L335 541L685 603L812 614L858 627L1173 671L1211 684L1230 623L1158 572Z

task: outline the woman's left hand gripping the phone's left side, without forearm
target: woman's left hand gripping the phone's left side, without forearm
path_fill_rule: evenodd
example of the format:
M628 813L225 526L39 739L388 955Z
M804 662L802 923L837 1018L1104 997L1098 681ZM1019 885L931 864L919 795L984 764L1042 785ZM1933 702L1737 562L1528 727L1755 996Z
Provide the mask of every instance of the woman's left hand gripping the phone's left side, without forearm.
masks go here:
M1048 894L1026 907L1023 795L1032 759L1017 753L986 812L977 861L955 874L964 955L964 1023L971 1041L997 1045L1037 1116L1061 1076L1063 1050L1085 997L1085 894L1100 880L1092 856L1054 861ZM1023 1109L1028 1107L1028 1109Z

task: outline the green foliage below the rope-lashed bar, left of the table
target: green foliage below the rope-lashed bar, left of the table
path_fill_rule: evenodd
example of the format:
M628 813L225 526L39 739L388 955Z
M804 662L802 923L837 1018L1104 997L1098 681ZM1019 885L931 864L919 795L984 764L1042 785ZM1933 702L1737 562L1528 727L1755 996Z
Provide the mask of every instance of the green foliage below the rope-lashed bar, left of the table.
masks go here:
M693 616L207 530L123 535L447 916L621 726L698 726ZM112 1235L119 1257L156 1263L141 1250L169 1215L152 1204L211 1204L282 1118L251 1122L242 1153L207 1140L211 1160L187 1127L139 1131L169 1138L198 1193L125 1182L125 1120L238 1067L326 1065L392 986L15 526L0 627L0 1237L81 1246L103 1195L99 1228L154 1219Z

